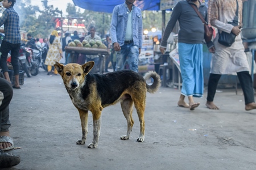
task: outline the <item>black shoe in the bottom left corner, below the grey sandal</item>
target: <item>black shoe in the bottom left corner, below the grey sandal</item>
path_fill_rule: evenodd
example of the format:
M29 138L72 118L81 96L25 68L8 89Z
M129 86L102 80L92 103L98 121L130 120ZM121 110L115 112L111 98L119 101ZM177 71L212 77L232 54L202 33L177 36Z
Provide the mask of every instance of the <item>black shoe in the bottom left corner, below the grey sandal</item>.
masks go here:
M20 163L19 155L9 154L0 150L0 168L10 168Z

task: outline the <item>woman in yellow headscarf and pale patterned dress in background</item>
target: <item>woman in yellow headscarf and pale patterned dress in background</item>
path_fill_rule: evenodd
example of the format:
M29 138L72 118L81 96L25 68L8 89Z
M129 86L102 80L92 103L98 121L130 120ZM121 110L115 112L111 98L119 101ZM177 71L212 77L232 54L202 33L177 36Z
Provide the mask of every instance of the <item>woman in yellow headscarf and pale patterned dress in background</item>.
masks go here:
M56 30L53 30L51 36L49 37L49 50L46 56L46 61L44 62L47 66L48 73L47 75L51 74L52 66L55 62L60 62L62 57L62 46L60 43L60 38ZM57 70L54 69L54 74L57 75Z

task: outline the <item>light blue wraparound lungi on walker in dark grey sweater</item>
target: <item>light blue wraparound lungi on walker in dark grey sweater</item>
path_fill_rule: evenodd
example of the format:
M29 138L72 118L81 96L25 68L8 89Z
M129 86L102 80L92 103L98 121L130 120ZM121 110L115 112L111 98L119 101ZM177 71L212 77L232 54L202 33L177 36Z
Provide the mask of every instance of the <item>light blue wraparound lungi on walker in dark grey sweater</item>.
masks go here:
M181 94L202 97L204 94L203 44L178 43L182 78Z

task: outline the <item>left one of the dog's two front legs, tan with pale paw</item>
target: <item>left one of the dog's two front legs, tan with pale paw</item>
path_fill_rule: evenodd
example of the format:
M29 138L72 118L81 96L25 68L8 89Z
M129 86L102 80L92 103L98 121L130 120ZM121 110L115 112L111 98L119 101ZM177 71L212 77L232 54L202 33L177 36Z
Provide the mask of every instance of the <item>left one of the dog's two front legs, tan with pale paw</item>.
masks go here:
M82 126L82 138L79 139L76 144L78 145L83 145L85 144L87 134L88 134L88 111L82 111L81 109L79 110L79 116L81 120L81 126Z

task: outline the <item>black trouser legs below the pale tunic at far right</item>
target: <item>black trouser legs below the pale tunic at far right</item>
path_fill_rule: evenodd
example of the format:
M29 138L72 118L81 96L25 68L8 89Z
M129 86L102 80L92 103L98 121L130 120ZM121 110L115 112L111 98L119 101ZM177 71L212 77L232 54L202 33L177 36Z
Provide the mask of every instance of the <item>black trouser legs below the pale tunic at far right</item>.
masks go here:
M240 81L243 95L245 97L245 104L254 102L254 90L253 90L253 80L249 74L249 71L241 71L237 73L238 79ZM213 101L218 80L220 80L221 74L210 74L209 82L208 82L208 94L207 101Z

